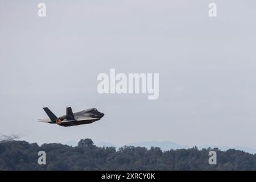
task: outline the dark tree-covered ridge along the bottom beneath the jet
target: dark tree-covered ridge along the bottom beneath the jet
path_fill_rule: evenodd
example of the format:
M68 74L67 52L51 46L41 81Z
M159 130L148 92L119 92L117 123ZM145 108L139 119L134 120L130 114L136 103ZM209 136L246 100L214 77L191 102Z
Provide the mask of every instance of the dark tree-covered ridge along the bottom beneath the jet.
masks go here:
M209 151L217 152L210 165ZM46 164L38 164L38 152L46 152ZM255 170L256 155L238 150L197 147L162 151L159 147L97 147L91 139L78 146L49 143L39 146L18 140L0 142L0 170Z

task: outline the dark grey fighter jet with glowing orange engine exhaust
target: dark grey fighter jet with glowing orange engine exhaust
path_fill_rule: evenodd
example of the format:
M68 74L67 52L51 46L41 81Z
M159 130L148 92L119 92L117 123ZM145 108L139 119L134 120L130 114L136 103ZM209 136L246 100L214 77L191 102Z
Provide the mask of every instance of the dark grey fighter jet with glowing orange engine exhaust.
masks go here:
M99 112L96 108L73 113L71 107L67 107L66 115L57 118L56 115L48 109L48 107L44 107L43 109L46 111L49 119L38 119L38 121L51 124L56 123L60 126L77 126L89 124L100 120L104 116L104 113Z

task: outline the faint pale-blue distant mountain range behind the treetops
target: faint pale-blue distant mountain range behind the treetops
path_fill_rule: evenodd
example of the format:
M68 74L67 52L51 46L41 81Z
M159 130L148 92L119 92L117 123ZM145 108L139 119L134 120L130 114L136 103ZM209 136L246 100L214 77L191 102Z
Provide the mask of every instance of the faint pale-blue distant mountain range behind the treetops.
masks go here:
M68 146L77 146L77 142L75 140L71 140L68 141L66 143L63 144L67 144ZM176 149L181 149L181 148L191 148L192 146L186 146L186 145L180 145L180 144L176 144L174 142L170 142L170 141L163 141L163 142L159 142L159 141L148 141L148 142L135 142L135 143L127 143L127 146L134 146L134 147L146 147L146 148L150 148L150 147L160 147L163 151L166 150L176 150ZM109 142L98 142L96 143L96 146L98 147L115 147L115 148L119 148L121 146L117 146L116 144L113 143L109 143ZM209 146L209 145L203 145L203 146L197 146L197 148L199 148L199 150L201 150L202 148L218 148L222 151L226 151L229 150L230 148L234 148L236 150L241 150L241 151L245 151L248 152L250 154L256 154L256 150L254 148L249 148L249 147L228 147L228 146Z

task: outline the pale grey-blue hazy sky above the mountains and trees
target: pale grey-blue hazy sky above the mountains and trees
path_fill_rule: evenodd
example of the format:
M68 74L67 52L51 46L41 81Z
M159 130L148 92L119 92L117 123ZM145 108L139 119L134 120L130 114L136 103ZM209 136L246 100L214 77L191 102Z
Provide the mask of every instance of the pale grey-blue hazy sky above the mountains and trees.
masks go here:
M38 17L44 2L47 16ZM210 2L217 17L208 16ZM256 1L0 0L0 133L29 142L170 140L256 148ZM159 73L159 98L97 75ZM90 125L36 122L96 107Z

